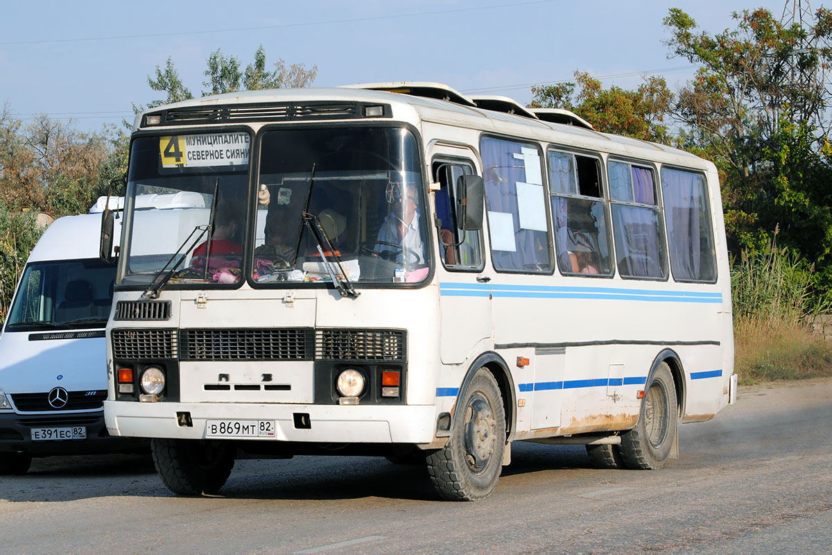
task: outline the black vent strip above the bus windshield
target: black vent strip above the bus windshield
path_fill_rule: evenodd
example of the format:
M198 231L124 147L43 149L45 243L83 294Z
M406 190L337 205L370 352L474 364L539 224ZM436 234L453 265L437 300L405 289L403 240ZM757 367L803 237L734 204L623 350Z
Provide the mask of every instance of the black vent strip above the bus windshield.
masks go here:
M383 106L384 117L390 117L389 105ZM285 102L267 104L232 104L229 106L182 107L156 111L147 116L161 116L155 126L205 125L254 121L301 121L354 119L364 117L364 102ZM145 116L146 117L146 116ZM146 120L144 123L145 126Z

